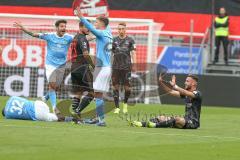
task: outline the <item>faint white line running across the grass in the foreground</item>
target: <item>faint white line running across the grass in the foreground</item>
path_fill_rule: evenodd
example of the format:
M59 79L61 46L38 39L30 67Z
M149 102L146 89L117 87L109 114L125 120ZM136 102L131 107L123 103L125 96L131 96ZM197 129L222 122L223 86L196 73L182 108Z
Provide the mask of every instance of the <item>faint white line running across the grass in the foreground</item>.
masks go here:
M47 126L24 126L24 125L1 125L3 127L18 127L18 128L47 128L47 129L62 129L58 127L47 127ZM0 127L1 127L0 126ZM91 126L91 125L88 125ZM100 130L99 127L97 127L98 132L109 132L109 130ZM76 128L74 128L76 129ZM161 130L161 129L158 129ZM84 129L81 128L81 131L89 131L89 128ZM131 134L146 134L146 135L163 135L163 136L180 136L180 137L197 137L197 138L214 138L214 139L232 139L232 140L240 140L240 137L225 137L225 136L213 136L213 135L196 135L196 134L175 134L175 133L160 133L160 132L140 132L140 131L129 131L129 130L121 130L120 132L124 133L131 133Z

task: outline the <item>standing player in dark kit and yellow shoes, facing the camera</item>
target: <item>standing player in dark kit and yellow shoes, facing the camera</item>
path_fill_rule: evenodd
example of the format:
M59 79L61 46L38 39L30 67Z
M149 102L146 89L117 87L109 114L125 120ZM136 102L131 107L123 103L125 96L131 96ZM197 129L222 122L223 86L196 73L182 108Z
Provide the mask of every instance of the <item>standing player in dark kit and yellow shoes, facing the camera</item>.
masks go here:
M116 109L114 113L120 112L119 108L119 86L124 86L123 113L127 113L127 102L131 94L130 76L132 60L136 62L136 46L134 40L126 34L126 23L118 24L118 36L113 38L112 43L112 84L113 98Z

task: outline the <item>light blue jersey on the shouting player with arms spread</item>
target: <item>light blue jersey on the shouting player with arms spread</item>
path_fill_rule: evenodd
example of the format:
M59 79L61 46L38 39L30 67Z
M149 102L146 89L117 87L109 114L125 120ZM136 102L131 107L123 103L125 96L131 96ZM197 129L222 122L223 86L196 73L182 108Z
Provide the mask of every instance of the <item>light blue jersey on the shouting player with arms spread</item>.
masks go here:
M59 37L57 33L40 33L39 38L47 41L45 64L59 67L67 61L68 48L73 40L70 34Z

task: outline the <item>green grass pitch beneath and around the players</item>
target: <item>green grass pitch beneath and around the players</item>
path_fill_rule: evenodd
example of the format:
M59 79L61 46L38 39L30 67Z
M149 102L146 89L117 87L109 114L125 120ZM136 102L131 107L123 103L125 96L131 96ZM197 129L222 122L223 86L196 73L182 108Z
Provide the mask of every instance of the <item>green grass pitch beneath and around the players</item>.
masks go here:
M7 97L0 97L5 104ZM1 107L2 107L1 105ZM144 105L130 113L182 114L183 106ZM239 160L240 109L202 107L198 130L129 127L112 112L107 127L0 118L0 159Z

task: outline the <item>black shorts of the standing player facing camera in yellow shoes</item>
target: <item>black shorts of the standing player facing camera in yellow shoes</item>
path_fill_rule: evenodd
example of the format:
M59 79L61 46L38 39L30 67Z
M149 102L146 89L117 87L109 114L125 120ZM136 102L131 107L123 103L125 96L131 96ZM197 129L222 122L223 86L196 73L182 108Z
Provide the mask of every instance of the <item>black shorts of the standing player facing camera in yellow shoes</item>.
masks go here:
M127 69L113 69L112 70L112 84L124 85L130 87L131 70Z

